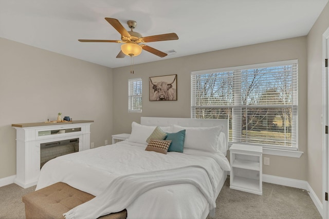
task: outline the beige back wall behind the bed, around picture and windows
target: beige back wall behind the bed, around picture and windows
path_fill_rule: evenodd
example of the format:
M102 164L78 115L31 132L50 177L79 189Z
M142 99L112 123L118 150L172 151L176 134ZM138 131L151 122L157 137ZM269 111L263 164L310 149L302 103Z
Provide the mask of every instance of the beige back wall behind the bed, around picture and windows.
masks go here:
M135 65L135 74L130 74L130 67L115 68L113 69L113 81L115 82L113 88L116 92L113 96L113 131L114 133L130 133L132 121L140 122L140 116L190 117L191 71L289 59L298 59L299 62L298 141L299 149L304 154L301 158L264 155L270 157L270 166L263 166L263 173L307 181L306 36ZM148 97L149 77L167 74L178 75L178 100L150 102ZM143 109L142 113L128 113L128 79L137 77L141 77L143 83Z

